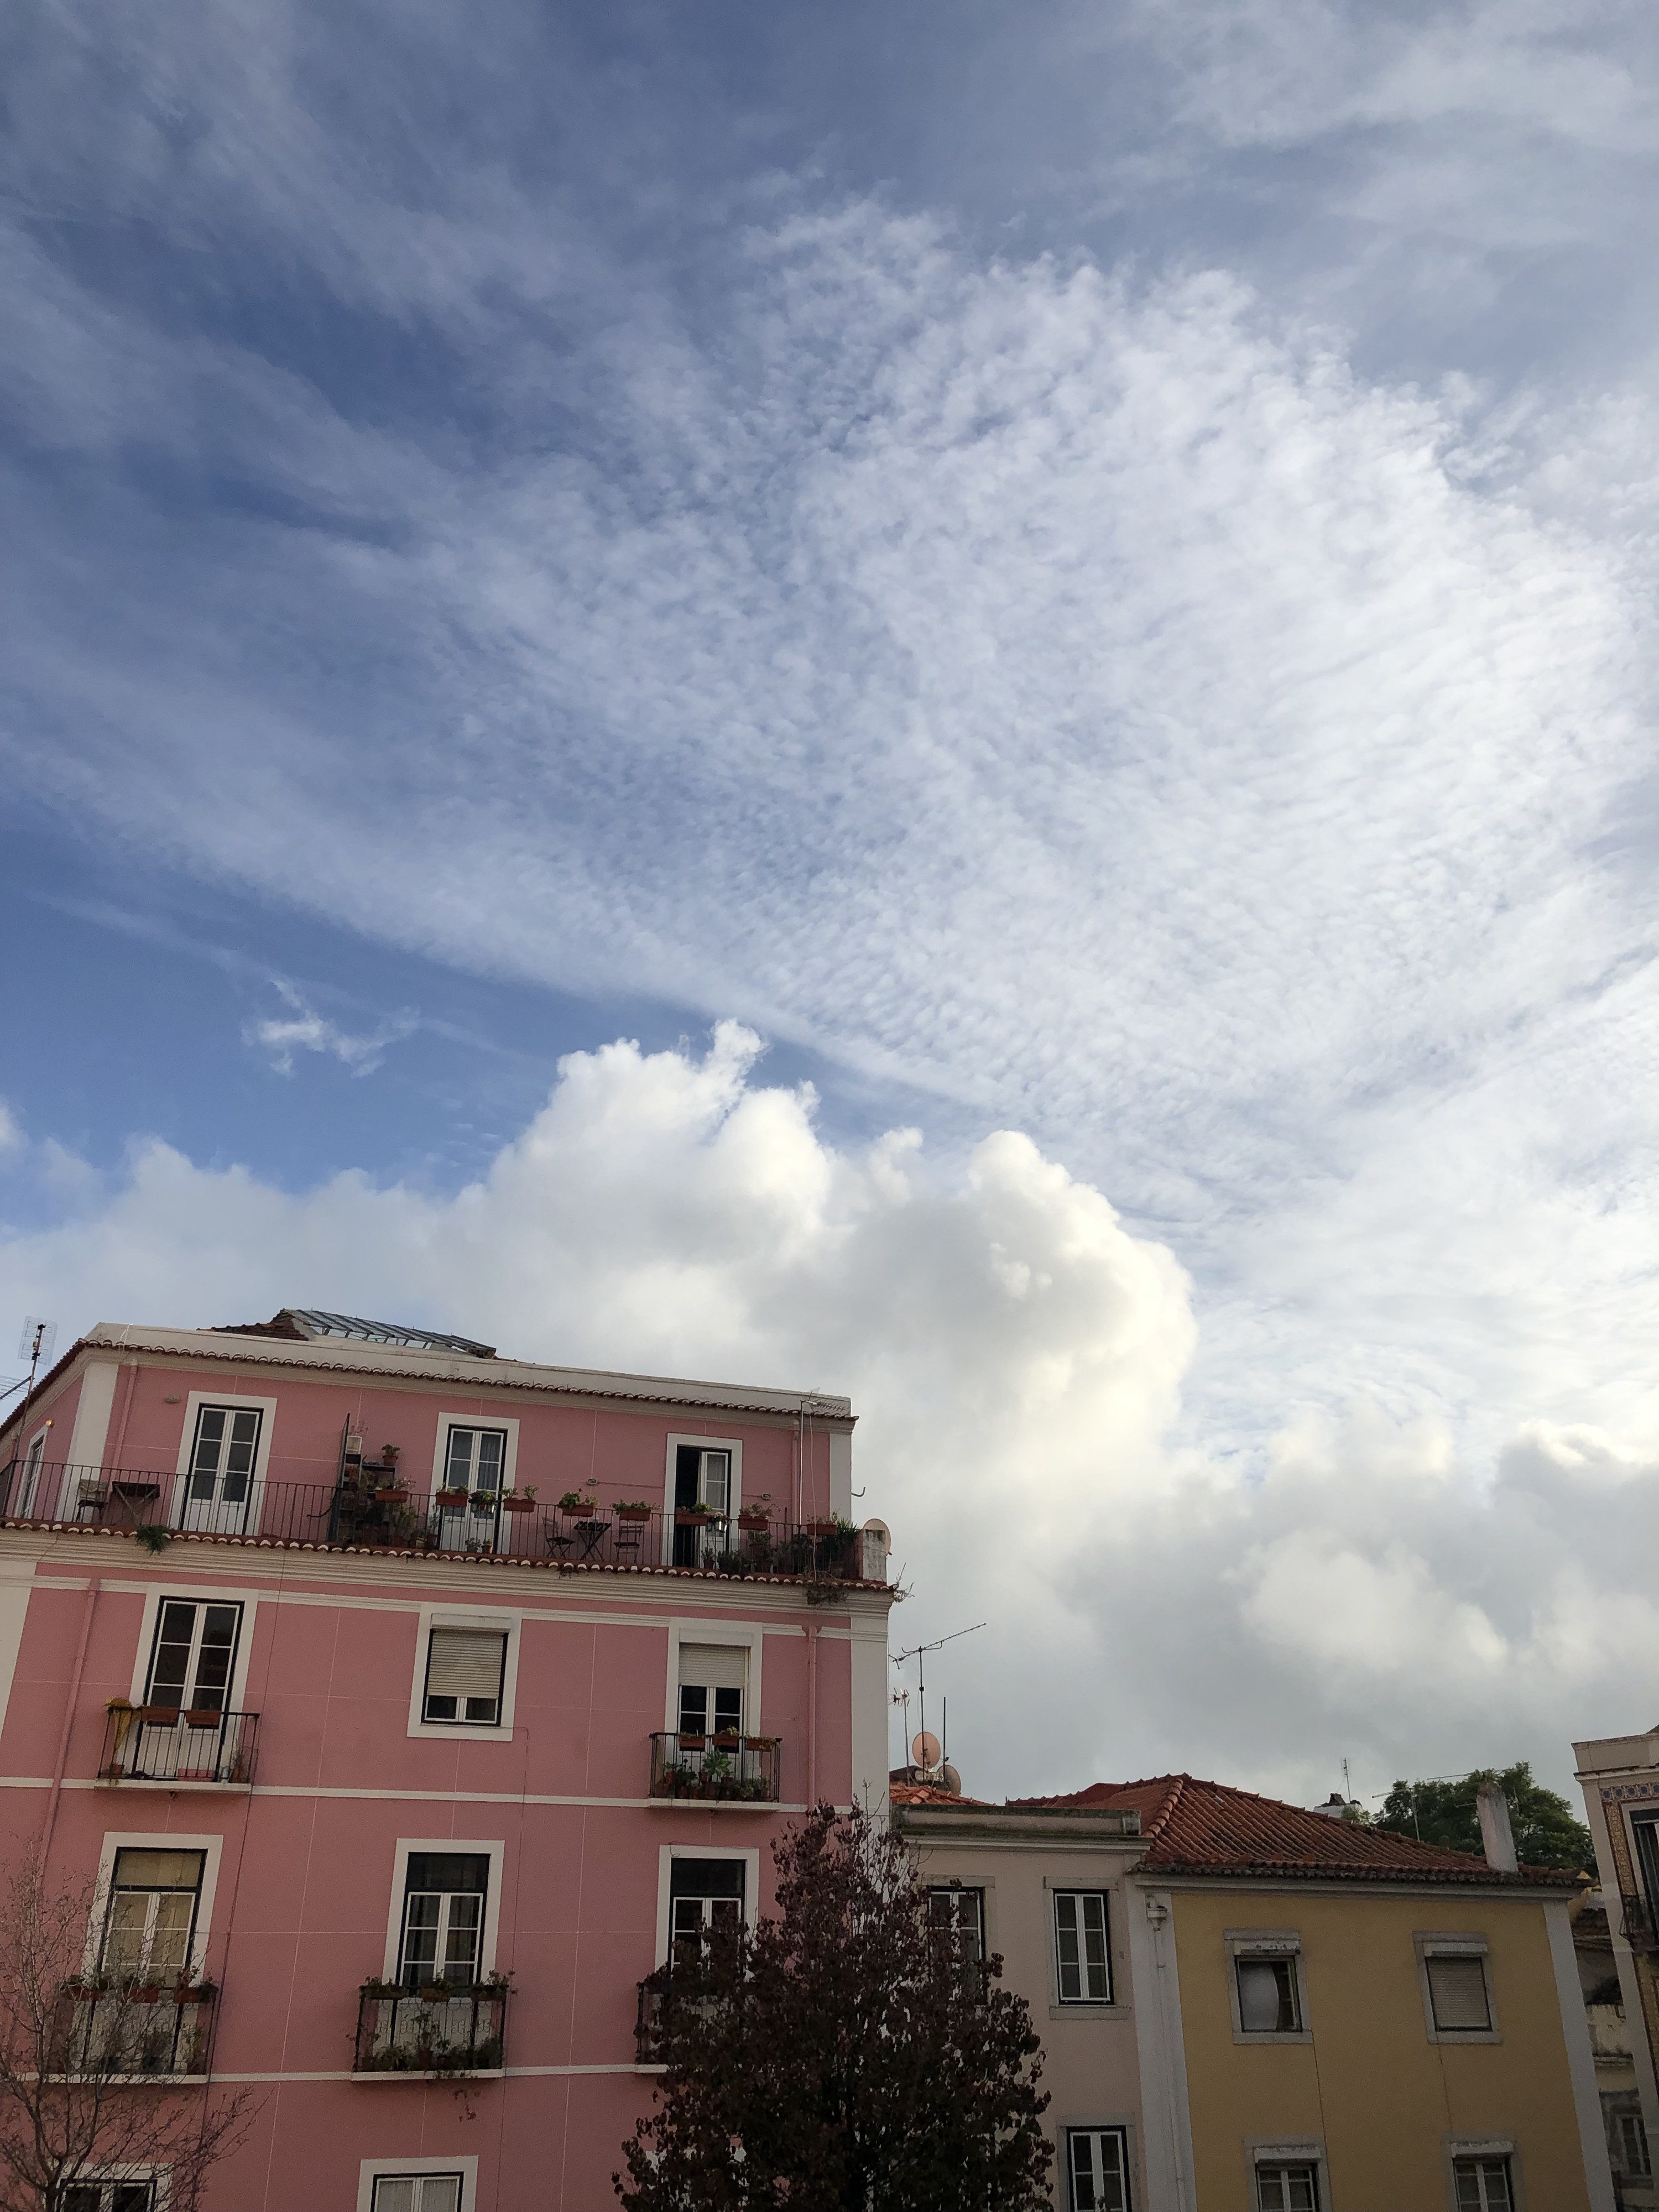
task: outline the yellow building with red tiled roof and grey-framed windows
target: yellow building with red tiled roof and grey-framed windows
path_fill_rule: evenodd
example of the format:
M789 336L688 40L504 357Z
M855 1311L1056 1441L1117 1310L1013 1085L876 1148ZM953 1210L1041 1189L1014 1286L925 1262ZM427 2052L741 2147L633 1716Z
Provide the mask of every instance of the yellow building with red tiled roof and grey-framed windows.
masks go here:
M1613 2212L1575 1876L1186 1774L956 1816L927 1801L898 1818L929 1882L995 1871L1013 1898L1024 1858L1044 1887L1099 1858L1117 1980L1102 2079L1077 2077L1079 2044L1051 2112L1066 2212ZM1048 1834L1040 1812L1117 1814L1124 1834ZM1006 1982L1031 1982L1040 2028L1055 2015L1035 1940ZM1097 2108L1124 2115L1110 2141Z

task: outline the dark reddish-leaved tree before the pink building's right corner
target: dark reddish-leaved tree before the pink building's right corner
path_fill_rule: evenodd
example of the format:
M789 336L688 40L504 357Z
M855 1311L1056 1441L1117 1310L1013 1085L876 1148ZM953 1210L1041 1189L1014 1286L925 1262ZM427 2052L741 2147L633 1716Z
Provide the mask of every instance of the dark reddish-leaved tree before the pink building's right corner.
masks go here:
M774 1845L776 1918L684 1944L628 2212L1048 2212L1042 2046L929 1918L905 1845L818 1805Z

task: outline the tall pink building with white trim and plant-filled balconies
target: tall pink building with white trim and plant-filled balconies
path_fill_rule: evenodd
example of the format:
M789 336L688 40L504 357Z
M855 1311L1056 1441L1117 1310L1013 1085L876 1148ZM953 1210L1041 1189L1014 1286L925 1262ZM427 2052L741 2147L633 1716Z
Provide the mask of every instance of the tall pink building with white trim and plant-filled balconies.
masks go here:
M885 1801L852 1427L283 1312L100 1325L0 1429L7 1847L263 2099L212 2208L615 2203L675 1931Z

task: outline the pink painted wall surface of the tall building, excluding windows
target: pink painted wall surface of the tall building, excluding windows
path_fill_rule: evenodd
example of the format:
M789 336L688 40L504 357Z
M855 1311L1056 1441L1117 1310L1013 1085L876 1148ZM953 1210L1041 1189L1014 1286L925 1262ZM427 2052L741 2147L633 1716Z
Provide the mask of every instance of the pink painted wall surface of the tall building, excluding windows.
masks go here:
M513 1394L396 1389L290 1378L250 1365L190 1371L139 1365L117 1383L111 1460L170 1473L188 1394L279 1400L270 1480L332 1482L349 1416L365 1444L403 1444L416 1491L429 1482L438 1413L522 1420L518 1478L542 1502L588 1482L602 1498L661 1502L668 1433L743 1436L743 1489L790 1500L794 1429L741 1413L538 1405ZM62 1394L60 1402L66 1398ZM168 1398L177 1398L175 1405ZM66 1416L58 1416L66 1422ZM71 1416L73 1418L73 1416ZM827 1509L827 1438L812 1440L807 1511ZM787 1511L787 1504L783 1506ZM664 1725L668 1617L763 1621L763 1703L754 1732L783 1739L783 1801L807 1792L816 1739L821 1796L852 1796L852 1688L845 1610L810 1608L799 1588L706 1575L584 1575L480 1566L447 1555L272 1553L179 1537L161 1557L106 1533L0 1531L13 1564L38 1559L0 1725L9 1838L51 1823L51 1869L88 1880L111 1832L223 1838L208 1973L221 1984L212 2066L259 2081L259 2126L210 2190L210 2212L356 2205L358 2161L431 2152L480 2159L478 2208L599 2208L653 2077L635 2068L637 1982L657 1964L661 1847L759 1847L770 1905L776 1807L648 1805L648 1736ZM259 1712L252 1794L95 1781L108 1699L142 1663L146 1593L252 1601L246 1688ZM409 1734L418 1608L522 1617L511 1741ZM830 1635L823 1635L830 1630ZM841 1630L836 1635L836 1630ZM816 1712L807 1710L807 1635ZM64 1712L80 1663L62 1761ZM529 1803L560 1798L566 1803ZM604 1803L626 1801L626 1803ZM303 2081L352 2064L356 1991L383 1971L398 1838L504 1845L495 1964L511 1971L509 2068L480 2081L465 2119L445 2084ZM555 2177L562 2177L557 2181Z

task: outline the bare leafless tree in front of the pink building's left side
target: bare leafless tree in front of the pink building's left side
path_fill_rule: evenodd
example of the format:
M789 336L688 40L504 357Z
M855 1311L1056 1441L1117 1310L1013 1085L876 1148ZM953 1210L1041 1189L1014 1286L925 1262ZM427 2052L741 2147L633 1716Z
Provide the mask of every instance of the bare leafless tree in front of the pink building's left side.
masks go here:
M204 1984L88 1969L97 1898L51 1889L27 1856L0 1893L0 2212L80 2212L86 2183L166 2174L168 2212L195 2212L241 2141L248 2090L173 2086L206 2068Z

